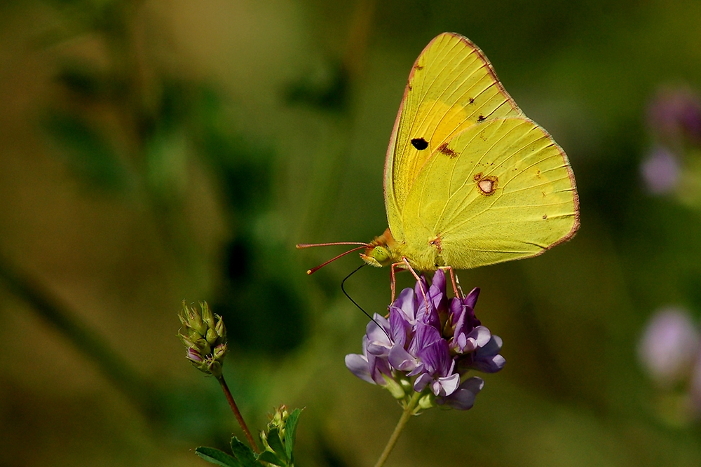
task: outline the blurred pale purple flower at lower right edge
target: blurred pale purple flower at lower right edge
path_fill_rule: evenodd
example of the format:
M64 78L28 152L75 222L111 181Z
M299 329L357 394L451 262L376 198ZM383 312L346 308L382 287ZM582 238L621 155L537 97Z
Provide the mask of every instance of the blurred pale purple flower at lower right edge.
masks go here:
M689 314L666 308L648 323L638 355L651 377L669 387L688 377L699 350L699 333Z

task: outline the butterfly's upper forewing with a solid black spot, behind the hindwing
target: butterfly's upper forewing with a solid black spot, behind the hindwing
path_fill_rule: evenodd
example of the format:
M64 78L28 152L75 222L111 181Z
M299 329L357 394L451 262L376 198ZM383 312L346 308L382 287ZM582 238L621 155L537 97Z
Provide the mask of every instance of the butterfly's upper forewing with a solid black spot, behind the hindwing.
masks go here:
M437 148L475 123L509 116L523 113L475 44L444 33L426 46L411 69L385 162L385 206L395 239L404 239L404 205Z

